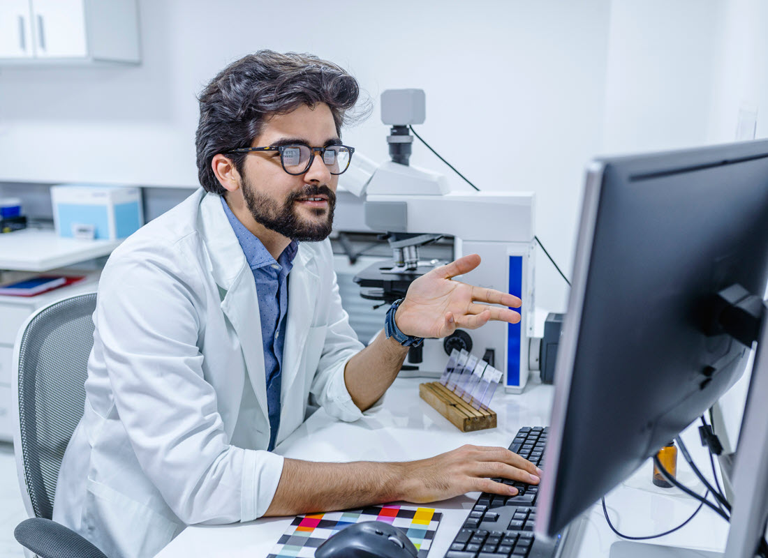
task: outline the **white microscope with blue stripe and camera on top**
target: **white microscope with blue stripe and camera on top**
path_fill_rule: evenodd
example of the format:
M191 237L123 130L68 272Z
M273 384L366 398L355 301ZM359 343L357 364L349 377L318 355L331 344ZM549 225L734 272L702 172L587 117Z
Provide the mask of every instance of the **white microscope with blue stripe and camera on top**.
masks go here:
M439 378L452 350L463 348L502 370L506 391L521 392L528 381L534 325L534 195L453 190L444 176L412 167L409 126L425 121L425 93L388 90L381 100L382 122L392 127L387 137L391 160L376 166L362 158L342 184L365 196L366 225L384 233L392 249L392 259L355 277L361 295L387 305L406 296L414 279L447 263L421 259L419 248L452 237L454 259L472 253L482 259L456 280L518 296L521 322L488 322L475 330L457 329L444 339L425 339L410 348L401 375ZM478 163L504 157L502 146L497 148L493 153L493 146L467 144Z

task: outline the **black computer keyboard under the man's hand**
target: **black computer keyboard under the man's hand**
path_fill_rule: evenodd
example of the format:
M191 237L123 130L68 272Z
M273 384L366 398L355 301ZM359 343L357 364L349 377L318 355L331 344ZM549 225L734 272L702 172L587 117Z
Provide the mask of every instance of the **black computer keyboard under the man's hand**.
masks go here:
M547 435L548 428L521 428L509 449L541 467ZM560 537L544 541L533 536L538 486L493 480L516 487L518 494L480 494L445 558L552 558Z

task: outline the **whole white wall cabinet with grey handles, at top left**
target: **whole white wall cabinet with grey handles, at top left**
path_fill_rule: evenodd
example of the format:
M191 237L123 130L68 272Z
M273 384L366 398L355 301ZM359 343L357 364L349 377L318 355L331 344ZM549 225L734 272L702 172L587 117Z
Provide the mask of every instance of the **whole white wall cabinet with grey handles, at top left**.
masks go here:
M136 0L0 2L0 64L139 61Z

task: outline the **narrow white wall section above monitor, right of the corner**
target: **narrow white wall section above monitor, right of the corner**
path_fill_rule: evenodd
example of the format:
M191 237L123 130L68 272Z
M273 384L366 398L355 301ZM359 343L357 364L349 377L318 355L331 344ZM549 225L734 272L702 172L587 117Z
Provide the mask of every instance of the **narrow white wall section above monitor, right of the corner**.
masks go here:
M726 0L611 2L604 153L707 141L726 5Z

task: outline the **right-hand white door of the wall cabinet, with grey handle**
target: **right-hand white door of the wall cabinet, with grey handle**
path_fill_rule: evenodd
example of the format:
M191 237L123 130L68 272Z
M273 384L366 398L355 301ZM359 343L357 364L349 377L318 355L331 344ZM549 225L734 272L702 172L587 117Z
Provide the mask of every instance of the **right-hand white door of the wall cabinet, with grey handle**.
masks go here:
M35 55L38 58L84 58L84 0L31 0Z

